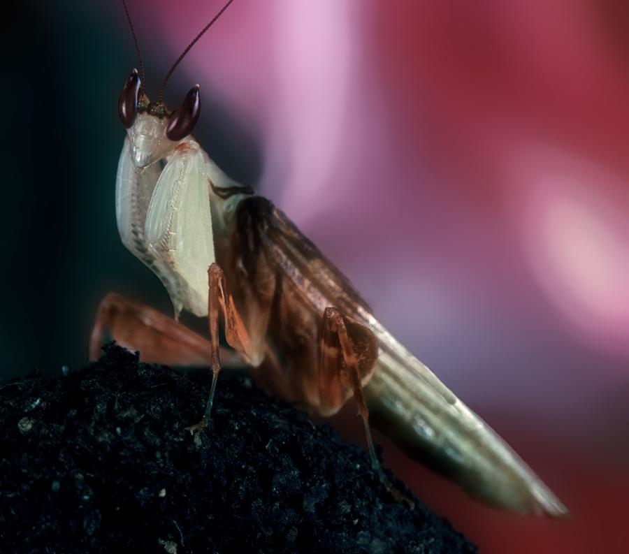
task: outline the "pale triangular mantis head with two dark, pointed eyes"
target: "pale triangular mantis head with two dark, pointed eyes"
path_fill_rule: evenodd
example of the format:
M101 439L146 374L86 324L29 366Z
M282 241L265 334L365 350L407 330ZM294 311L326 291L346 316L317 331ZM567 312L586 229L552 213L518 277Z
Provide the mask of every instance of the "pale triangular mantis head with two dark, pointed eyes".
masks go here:
M161 99L148 99L140 75L133 69L118 100L118 115L131 141L133 165L143 168L168 156L192 132L200 113L198 85L189 90L178 110L168 112Z

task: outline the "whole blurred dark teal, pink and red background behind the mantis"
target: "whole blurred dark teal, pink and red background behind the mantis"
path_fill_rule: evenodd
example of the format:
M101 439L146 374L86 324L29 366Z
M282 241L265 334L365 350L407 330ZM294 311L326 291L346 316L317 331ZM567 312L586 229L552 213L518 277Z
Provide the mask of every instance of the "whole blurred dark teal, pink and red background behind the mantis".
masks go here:
M150 95L220 5L129 0ZM628 6L238 0L166 89L174 108L201 85L210 156L572 511L486 509L378 435L386 465L484 553L629 548ZM85 365L108 291L171 307L115 227L117 97L137 66L122 5L10 10L1 372L60 374Z

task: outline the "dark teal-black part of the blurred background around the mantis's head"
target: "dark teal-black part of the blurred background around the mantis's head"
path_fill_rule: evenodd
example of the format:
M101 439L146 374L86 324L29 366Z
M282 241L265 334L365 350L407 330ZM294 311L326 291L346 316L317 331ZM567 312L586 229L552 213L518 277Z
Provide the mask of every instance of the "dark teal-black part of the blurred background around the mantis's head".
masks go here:
M99 300L117 291L170 313L161 283L118 238L114 186L124 128L117 98L137 65L121 3L17 3L6 16L2 377L87 360ZM157 86L178 52L140 37ZM189 88L175 73L174 101ZM148 77L150 79L150 77ZM201 83L203 86L203 83ZM255 184L259 148L204 87L195 132L219 165ZM230 130L229 140L224 138Z

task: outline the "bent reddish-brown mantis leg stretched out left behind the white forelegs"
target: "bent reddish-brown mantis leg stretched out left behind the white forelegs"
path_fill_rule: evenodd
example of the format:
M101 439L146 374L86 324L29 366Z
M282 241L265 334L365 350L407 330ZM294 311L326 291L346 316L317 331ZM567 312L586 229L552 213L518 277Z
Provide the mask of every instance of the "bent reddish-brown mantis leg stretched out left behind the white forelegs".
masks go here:
M147 363L204 367L211 363L210 342L157 309L117 293L109 293L99 305L89 340L89 359L101 353L105 333L120 346L140 351ZM226 367L243 367L243 356L223 349Z

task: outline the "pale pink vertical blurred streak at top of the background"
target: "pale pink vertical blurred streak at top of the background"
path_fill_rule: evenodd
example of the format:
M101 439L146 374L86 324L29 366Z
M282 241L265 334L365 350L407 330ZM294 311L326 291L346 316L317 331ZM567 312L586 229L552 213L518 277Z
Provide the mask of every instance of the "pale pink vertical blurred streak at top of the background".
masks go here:
M271 168L284 168L278 203L303 221L313 216L321 189L333 184L343 153L354 4L294 1L275 9L276 123L267 152Z

